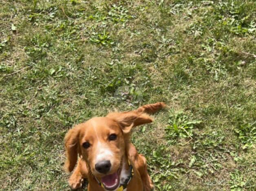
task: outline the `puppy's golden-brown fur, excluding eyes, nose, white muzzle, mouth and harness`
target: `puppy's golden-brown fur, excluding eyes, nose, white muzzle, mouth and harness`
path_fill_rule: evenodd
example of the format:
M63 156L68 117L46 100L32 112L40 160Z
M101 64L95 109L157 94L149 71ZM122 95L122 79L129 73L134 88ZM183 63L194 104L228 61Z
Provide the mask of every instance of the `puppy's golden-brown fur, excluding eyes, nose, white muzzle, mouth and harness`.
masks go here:
M68 180L71 188L82 187L83 179L88 178L88 191L104 191L95 180L95 177L101 180L104 176L95 170L100 147L111 151L112 167L108 174L118 171L127 159L130 161L134 176L128 184L127 191L150 191L153 184L148 175L146 158L138 154L130 142L130 130L132 127L152 122L152 118L146 113L154 113L164 106L163 102L157 102L141 106L135 111L109 113L106 117L94 117L70 129L64 138L67 171L73 171L77 155L79 156L77 166ZM108 141L108 136L113 133L117 135L117 139ZM90 143L89 148L83 147L85 142Z

